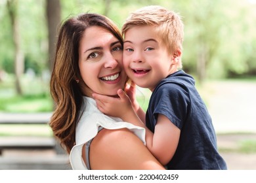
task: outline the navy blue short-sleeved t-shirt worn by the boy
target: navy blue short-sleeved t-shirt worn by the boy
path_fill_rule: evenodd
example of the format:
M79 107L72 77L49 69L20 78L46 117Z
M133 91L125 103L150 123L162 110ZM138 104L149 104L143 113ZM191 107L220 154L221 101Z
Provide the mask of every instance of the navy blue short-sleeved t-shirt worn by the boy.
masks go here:
M182 70L161 80L150 97L146 126L154 132L158 114L163 114L181 129L167 169L227 169L217 151L211 116L194 84L194 78Z

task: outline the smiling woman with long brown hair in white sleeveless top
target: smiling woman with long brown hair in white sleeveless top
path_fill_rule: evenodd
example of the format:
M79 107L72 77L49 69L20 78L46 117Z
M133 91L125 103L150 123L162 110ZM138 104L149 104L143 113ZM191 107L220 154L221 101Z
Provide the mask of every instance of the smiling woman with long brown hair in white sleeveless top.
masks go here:
M144 146L143 128L104 115L92 98L92 93L116 96L125 87L122 53L121 33L105 16L81 14L60 28L50 125L73 169L164 169Z

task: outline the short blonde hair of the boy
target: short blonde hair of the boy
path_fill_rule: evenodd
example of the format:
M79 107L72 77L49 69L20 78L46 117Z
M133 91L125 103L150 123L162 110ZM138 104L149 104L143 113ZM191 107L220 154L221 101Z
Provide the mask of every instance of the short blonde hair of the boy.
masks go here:
M177 49L182 50L184 25L179 14L156 5L139 8L126 19L121 29L122 34L125 35L136 25L153 25L156 27L154 31L171 53ZM179 66L181 67L181 63Z

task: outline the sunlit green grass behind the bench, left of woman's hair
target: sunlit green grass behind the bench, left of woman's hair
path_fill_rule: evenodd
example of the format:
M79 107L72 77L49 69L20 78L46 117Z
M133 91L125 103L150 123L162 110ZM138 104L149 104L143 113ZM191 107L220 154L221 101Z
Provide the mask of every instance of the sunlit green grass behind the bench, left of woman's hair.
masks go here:
M48 82L41 78L22 77L23 95L14 90L14 78L8 75L0 82L0 112L51 112L53 102Z

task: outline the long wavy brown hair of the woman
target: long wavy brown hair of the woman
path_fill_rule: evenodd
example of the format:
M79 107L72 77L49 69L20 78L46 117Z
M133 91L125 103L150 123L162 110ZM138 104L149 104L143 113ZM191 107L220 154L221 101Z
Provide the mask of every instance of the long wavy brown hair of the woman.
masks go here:
M83 105L83 94L75 82L82 80L78 66L79 42L85 29L93 25L110 31L123 44L117 25L100 14L80 14L69 18L60 27L50 84L55 103L50 126L68 154L75 145L75 127Z

